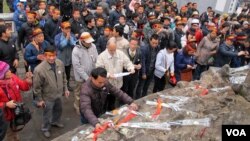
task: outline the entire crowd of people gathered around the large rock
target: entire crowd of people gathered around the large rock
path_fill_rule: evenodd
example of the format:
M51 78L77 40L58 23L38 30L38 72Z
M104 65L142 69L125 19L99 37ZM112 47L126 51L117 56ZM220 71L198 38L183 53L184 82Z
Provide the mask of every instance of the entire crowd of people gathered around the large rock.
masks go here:
M212 7L201 12L192 2L179 9L171 0L14 0L9 7L17 37L0 19L0 108L11 123L20 90L32 89L48 138L51 125L63 127L61 98L70 92L82 124L99 128L107 110L122 104L137 110L133 101L146 96L152 82L158 92L199 80L210 66L250 62L249 7L231 15ZM18 50L24 80L15 75ZM121 73L129 75L117 77ZM18 135L8 129L6 138Z

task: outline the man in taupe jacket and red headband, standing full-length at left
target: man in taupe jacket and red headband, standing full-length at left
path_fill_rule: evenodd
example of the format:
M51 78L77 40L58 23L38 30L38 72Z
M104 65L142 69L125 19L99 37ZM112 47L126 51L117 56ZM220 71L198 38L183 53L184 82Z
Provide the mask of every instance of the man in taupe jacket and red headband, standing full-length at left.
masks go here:
M49 46L44 50L45 60L34 71L33 92L37 106L43 108L42 132L50 137L50 125L63 128L62 94L69 96L65 68L62 61L56 59L56 49Z

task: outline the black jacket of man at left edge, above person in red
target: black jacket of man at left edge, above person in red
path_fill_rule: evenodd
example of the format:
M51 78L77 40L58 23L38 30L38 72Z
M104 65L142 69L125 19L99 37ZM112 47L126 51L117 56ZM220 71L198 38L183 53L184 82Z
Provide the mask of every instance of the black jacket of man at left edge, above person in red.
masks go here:
M10 65L10 70L13 73L16 72L16 68L13 66L15 59L19 59L15 43L0 39L0 60Z

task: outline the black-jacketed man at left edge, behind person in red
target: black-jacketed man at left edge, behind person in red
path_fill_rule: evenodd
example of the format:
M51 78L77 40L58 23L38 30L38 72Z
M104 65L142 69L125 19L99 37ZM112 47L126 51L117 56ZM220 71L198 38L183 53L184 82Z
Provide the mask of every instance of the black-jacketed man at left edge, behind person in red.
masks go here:
M0 25L0 60L10 65L12 73L18 67L18 54L14 42L9 42L11 31L5 25Z

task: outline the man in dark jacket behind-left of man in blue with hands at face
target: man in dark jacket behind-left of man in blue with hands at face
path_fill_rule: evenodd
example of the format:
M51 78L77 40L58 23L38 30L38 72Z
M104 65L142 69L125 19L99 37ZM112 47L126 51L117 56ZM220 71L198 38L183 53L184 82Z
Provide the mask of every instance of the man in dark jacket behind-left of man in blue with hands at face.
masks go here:
M54 38L61 32L60 10L54 9L52 18L44 25L44 37L51 45L54 45Z

